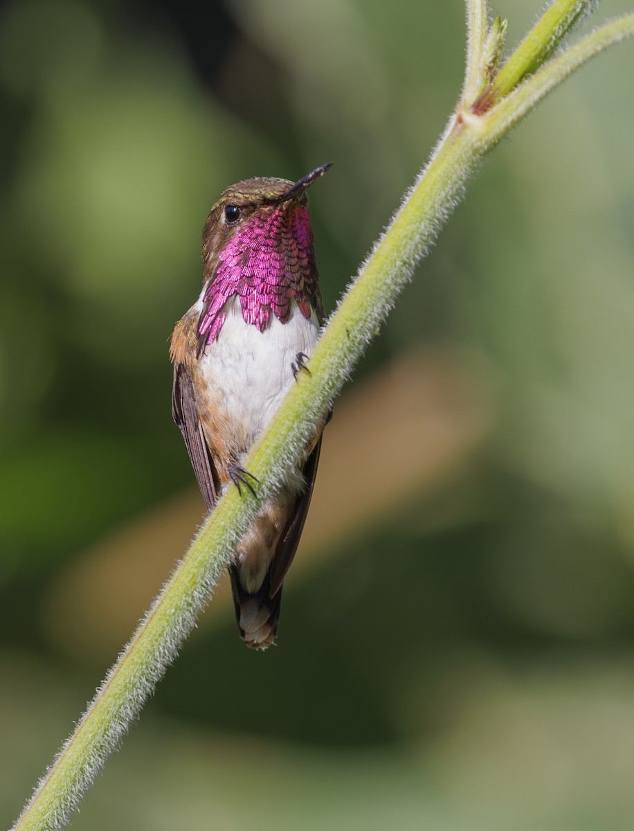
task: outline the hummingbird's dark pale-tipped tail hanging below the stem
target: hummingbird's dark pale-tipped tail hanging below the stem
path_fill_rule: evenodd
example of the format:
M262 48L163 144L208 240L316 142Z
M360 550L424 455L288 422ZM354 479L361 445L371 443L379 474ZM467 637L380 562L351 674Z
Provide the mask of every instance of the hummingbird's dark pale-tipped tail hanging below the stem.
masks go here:
M249 594L240 585L238 568L229 566L233 607L243 641L252 649L266 649L275 641L278 632L279 607L282 601L282 587L271 597L270 572L254 594Z

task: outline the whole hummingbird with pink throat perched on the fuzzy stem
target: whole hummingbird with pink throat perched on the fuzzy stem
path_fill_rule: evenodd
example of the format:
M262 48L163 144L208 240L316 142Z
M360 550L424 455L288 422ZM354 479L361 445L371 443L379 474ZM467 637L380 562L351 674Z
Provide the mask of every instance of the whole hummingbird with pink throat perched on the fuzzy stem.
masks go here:
M317 343L324 321L307 189L332 163L292 182L244 179L225 189L203 229L203 290L174 327L172 415L199 489L214 509L231 483L255 493L243 467ZM325 413L241 538L229 566L243 641L266 649L310 504Z

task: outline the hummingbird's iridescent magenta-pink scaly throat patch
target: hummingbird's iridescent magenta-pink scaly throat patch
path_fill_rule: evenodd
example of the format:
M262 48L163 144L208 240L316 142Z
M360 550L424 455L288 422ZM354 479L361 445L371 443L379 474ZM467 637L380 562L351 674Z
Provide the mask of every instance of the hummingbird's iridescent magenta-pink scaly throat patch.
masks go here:
M238 295L244 322L263 332L271 312L282 323L297 302L307 319L312 311L323 322L319 275L312 248L307 208L283 203L271 213L248 219L220 252L219 265L204 293L199 337L206 343L219 335L227 317L226 303Z

